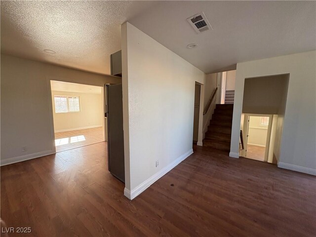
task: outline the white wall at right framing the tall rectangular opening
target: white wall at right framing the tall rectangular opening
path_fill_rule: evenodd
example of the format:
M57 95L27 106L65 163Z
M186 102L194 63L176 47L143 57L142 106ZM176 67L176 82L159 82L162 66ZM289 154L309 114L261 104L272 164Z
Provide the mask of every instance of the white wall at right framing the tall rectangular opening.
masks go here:
M280 74L289 82L278 166L316 175L316 51L237 64L230 156L239 155L244 79Z

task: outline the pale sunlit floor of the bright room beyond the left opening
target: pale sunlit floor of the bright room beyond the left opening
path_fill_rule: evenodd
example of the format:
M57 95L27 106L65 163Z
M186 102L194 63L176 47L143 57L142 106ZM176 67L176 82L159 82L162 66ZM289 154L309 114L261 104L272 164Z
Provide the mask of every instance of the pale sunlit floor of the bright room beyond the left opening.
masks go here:
M103 132L103 127L56 132L56 152L63 152L74 148L92 145L98 142L104 142Z

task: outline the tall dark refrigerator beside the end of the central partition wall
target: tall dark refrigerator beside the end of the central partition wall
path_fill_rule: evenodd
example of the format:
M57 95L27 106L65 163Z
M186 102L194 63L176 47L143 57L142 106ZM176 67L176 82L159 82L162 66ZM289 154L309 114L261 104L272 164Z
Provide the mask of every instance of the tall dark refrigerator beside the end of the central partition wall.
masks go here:
M106 85L108 168L125 182L122 84Z

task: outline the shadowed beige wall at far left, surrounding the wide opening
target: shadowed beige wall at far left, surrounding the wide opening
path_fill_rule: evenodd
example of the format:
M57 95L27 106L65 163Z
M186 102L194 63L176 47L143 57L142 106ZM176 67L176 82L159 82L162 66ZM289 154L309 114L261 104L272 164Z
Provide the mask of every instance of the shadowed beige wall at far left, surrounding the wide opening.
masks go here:
M1 165L54 152L49 79L97 86L121 81L1 54Z

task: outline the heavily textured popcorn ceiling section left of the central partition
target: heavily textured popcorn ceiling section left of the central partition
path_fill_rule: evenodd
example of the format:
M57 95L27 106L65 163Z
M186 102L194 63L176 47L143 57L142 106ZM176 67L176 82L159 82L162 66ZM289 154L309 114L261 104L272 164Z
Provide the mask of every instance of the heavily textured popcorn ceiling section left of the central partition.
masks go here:
M1 1L1 52L109 75L110 54L120 50L120 25L155 4Z

